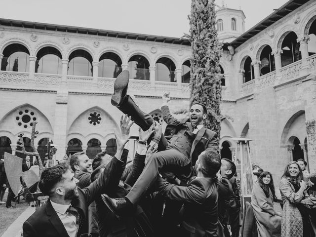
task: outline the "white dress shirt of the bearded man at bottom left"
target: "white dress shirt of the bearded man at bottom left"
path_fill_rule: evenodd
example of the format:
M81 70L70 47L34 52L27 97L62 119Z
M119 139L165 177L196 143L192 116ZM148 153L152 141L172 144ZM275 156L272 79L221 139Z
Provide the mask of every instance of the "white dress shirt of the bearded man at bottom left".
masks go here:
M56 211L59 219L63 223L69 237L76 237L78 232L78 225L77 225L77 218L75 215L66 212L69 205L58 204L50 200L51 205L53 206L54 210Z

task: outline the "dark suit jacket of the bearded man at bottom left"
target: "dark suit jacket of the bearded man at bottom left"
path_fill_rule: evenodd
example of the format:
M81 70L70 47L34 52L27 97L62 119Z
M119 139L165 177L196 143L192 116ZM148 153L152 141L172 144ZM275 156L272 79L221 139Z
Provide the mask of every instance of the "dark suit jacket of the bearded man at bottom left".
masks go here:
M79 211L81 218L83 218L83 224L79 234L88 233L87 212L90 203L96 197L106 193L106 190L111 190L118 186L120 178L118 173L122 172L122 163L122 161L113 157L97 180L91 183L87 188L78 188L79 197L76 197L71 204ZM40 206L40 208L24 222L23 236L69 237L49 200Z

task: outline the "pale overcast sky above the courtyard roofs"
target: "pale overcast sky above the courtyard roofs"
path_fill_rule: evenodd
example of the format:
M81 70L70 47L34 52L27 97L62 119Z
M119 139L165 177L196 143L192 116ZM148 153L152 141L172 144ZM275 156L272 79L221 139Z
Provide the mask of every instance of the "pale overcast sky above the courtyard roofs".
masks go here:
M288 0L215 0L243 10L246 31ZM191 0L0 0L0 18L138 34L189 33Z

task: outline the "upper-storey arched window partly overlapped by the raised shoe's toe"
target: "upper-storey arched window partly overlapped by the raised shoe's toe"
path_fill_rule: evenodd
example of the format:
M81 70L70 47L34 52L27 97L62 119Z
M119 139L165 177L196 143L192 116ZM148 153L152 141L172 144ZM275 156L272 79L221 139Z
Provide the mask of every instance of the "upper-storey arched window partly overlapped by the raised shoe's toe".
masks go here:
M117 78L122 71L122 60L113 52L102 54L99 60L99 77Z

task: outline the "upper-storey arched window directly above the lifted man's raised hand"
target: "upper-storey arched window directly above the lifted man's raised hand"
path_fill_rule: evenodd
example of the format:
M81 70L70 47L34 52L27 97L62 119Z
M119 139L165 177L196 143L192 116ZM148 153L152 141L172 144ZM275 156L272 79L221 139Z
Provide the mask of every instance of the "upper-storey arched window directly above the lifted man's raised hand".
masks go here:
M174 70L176 66L169 58L159 58L156 63L156 80L175 82Z

